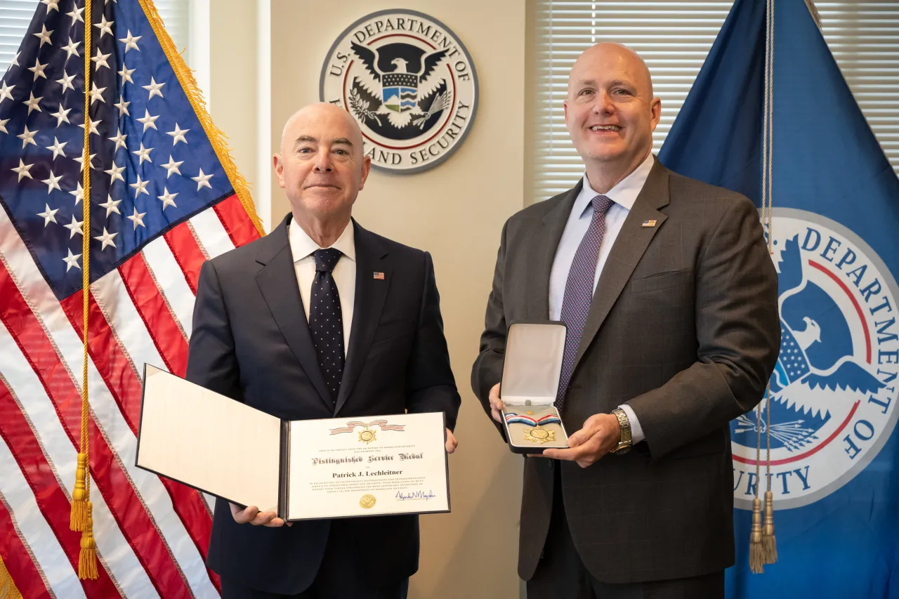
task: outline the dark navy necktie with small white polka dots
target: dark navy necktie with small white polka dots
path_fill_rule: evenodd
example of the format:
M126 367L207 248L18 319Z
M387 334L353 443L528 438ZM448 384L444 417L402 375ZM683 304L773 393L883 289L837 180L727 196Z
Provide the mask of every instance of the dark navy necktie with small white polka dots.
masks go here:
M309 300L309 331L316 346L318 364L325 375L325 385L336 403L343 378L343 316L340 295L334 282L334 266L340 260L341 251L329 247L316 250L316 278L312 281L312 299Z

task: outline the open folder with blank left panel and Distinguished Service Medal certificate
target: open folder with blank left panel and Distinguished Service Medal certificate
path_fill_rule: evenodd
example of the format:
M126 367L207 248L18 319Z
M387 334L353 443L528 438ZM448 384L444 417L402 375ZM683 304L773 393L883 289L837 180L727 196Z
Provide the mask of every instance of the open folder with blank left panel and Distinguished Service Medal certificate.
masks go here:
M282 420L146 364L138 468L284 520L449 512L442 412Z

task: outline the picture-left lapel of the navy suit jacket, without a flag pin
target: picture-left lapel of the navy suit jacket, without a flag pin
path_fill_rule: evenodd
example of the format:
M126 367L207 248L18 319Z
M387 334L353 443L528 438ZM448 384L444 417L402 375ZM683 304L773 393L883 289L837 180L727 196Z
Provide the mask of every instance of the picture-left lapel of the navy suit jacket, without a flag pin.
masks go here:
M278 228L265 237L268 243L263 245L256 256L256 262L263 264L263 268L256 273L256 284L259 285L259 291L262 292L281 335L287 340L290 351L297 356L300 366L318 391L319 398L331 409L331 396L318 366L316 347L312 344L306 310L299 295L297 272L293 267L293 255L288 241L289 222L288 215Z

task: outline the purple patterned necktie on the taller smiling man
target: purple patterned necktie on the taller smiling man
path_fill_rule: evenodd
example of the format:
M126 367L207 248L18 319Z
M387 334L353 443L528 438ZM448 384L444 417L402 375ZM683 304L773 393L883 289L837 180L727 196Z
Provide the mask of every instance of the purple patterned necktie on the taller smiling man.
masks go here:
M565 323L565 354L562 358L562 374L559 377L559 389L556 392L556 408L561 410L565 401L565 391L571 382L574 372L574 356L577 346L581 344L583 326L590 313L593 300L593 281L596 278L596 266L600 257L602 236L606 232L606 212L614 202L604 195L597 195L592 200L593 218L590 228L583 235L581 245L577 247L568 281L565 282L565 298L562 299L562 322Z

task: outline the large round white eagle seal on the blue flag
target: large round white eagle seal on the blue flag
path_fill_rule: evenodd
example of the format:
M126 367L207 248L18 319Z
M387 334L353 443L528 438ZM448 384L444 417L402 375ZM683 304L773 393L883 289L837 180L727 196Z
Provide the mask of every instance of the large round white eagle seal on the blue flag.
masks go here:
M770 415L731 423L734 503L752 509L756 435L770 417L775 509L830 495L877 456L896 424L899 326L895 279L861 237L804 210L775 209L780 354Z

